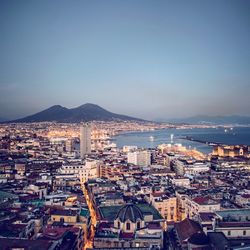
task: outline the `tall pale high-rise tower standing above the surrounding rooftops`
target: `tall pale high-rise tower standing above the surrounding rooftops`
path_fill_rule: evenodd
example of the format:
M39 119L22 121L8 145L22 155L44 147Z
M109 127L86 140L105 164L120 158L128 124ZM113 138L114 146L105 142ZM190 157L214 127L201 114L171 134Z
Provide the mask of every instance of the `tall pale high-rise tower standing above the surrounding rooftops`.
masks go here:
M80 155L84 158L91 153L91 127L88 123L80 126Z

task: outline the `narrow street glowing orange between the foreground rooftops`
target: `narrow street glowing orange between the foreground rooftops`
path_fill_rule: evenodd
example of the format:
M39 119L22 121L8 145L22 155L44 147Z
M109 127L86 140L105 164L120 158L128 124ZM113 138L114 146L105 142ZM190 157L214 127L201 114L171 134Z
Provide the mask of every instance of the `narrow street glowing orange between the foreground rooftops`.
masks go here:
M88 249L88 248L93 248L93 241L94 241L94 236L95 236L95 227L96 227L97 219L96 219L95 208L89 197L88 190L85 188L85 185L83 185L83 193L84 193L84 196L85 196L88 208L89 208L89 213L91 216L91 225L88 231L87 241L83 247L83 249Z

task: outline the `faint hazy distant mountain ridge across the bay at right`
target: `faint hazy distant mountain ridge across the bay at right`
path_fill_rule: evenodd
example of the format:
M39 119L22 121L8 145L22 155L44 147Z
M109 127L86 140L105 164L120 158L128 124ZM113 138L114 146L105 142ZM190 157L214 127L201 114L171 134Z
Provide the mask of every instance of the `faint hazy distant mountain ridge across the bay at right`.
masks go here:
M250 124L250 116L230 115L230 116L206 116L197 115L184 119L173 119L175 123L188 123L188 124Z

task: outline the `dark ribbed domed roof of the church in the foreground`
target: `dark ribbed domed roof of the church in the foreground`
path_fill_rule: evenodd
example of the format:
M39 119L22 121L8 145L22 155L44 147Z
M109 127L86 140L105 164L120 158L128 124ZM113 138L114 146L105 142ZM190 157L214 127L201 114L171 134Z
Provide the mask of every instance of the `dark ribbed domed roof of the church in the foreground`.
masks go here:
M119 219L121 222L126 220L136 222L137 219L143 220L143 214L135 204L126 204L119 210L116 219Z

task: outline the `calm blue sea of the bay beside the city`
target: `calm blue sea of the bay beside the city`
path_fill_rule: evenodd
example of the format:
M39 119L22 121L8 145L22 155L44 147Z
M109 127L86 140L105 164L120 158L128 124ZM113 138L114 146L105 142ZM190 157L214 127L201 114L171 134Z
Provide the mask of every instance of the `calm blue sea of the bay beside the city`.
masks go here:
M205 154L212 152L212 146L206 143L190 141L185 137L194 140L222 143L227 145L249 145L250 127L232 128L194 128L194 129L161 129L143 132L129 132L113 137L117 147L133 145L139 148L155 148L160 144L182 144L189 149L196 149Z

